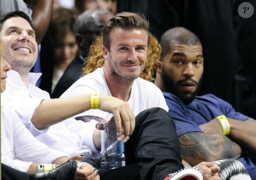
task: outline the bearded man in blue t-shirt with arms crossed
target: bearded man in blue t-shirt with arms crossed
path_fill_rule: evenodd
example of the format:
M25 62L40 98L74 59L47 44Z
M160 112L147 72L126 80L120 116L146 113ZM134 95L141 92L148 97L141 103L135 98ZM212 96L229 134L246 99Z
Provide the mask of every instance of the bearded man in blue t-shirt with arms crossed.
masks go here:
M177 27L163 34L160 45L162 65L155 84L163 91L176 124L182 159L192 166L202 161L237 159L256 180L252 161L256 121L212 94L197 96L204 61L200 40L188 29Z

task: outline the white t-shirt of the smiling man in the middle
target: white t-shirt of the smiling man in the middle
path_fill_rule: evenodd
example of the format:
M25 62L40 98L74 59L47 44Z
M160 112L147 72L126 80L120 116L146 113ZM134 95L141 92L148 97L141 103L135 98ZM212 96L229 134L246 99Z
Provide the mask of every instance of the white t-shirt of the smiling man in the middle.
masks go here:
M73 97L95 92L111 96L102 68L97 68L94 72L78 79L60 97ZM165 109L167 112L169 111L162 91L155 86L154 83L142 78L135 79L132 85L132 92L128 100L128 104L130 105L134 115L138 115L143 110L154 107L160 107ZM100 118L105 118L107 114L108 112L91 109L75 116L97 115Z

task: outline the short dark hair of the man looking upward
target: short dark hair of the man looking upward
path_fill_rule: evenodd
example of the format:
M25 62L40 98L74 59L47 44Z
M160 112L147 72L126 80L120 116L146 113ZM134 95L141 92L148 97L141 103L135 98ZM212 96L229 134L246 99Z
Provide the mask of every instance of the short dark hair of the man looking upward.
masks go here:
M32 21L32 19L23 11L11 11L8 12L6 14L4 14L3 16L1 16L0 18L0 30L2 30L3 24L6 20L8 20L9 18L13 18L13 17L20 17L20 18L24 18L32 27L32 29L34 31L36 31L36 28L34 26L34 23Z

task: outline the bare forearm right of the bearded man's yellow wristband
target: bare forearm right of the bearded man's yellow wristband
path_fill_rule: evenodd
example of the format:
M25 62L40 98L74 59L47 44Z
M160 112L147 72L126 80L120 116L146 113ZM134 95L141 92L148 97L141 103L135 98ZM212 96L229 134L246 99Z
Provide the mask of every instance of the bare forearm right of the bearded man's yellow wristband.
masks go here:
M229 119L229 122L231 131L228 137L254 154L256 152L256 121L254 119L246 121Z

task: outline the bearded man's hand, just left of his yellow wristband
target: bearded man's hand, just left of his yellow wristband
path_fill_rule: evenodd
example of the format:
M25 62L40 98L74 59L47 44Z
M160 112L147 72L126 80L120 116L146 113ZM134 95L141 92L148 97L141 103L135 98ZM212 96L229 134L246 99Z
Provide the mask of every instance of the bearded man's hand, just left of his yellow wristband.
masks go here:
M217 118L212 119L211 121L204 123L199 127L201 128L201 130L203 130L203 133L223 135L221 123Z

